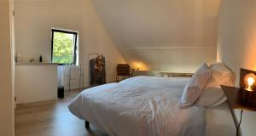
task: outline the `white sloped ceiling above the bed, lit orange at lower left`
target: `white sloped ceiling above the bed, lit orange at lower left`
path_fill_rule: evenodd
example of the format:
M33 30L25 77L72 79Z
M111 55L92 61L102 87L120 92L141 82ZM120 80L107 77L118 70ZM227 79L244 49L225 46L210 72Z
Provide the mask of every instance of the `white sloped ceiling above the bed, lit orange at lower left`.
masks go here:
M92 0L125 61L195 71L216 61L219 0Z

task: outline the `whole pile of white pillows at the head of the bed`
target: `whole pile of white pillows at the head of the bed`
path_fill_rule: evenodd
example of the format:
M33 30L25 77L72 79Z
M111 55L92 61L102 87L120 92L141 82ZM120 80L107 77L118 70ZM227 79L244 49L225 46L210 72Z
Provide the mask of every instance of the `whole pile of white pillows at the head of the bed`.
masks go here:
M184 88L180 106L185 108L194 103L200 106L219 105L226 99L220 85L234 86L234 81L232 71L224 63L210 67L204 63Z

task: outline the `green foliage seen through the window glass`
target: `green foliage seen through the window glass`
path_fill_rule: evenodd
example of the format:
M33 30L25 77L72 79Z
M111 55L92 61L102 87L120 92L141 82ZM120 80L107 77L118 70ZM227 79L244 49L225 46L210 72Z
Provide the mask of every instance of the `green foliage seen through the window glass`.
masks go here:
M74 57L74 35L54 32L53 63L72 64Z

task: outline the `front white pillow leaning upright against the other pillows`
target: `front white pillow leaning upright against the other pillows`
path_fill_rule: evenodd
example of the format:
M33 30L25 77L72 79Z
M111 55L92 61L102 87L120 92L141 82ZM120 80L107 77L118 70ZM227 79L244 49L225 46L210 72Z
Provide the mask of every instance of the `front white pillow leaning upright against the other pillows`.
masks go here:
M199 98L207 80L211 77L211 71L208 68L207 64L204 63L201 67L195 71L195 74L187 83L183 90L183 95L180 99L181 108L188 107L189 105L193 105L195 100Z

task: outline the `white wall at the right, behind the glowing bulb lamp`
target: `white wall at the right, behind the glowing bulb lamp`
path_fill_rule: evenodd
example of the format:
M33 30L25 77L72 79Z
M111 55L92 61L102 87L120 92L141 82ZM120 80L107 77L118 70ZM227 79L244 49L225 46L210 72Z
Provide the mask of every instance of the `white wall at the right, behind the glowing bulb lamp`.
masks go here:
M239 69L256 71L256 1L224 0L218 14L218 61L224 61L236 72ZM236 111L238 117L239 111ZM239 117L238 117L239 119ZM256 133L256 113L245 111L241 123L244 136Z

